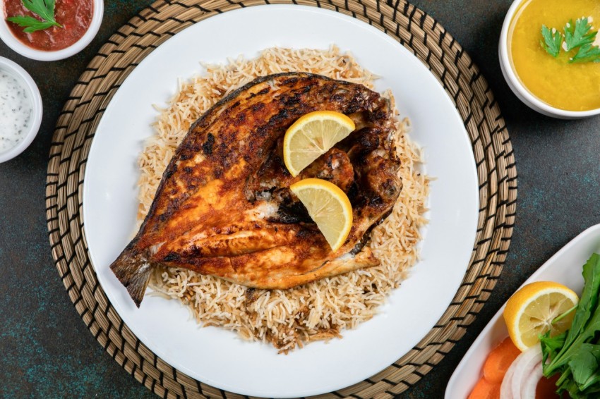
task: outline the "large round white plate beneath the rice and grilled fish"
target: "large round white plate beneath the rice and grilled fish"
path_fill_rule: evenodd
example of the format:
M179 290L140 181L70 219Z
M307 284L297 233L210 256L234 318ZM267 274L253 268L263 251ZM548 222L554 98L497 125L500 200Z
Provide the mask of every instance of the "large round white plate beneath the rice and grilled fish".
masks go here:
M327 49L335 44L381 78L424 147L431 219L421 261L380 314L344 338L277 355L236 333L200 329L176 300L146 296L137 309L109 264L135 233L137 158L150 123L178 79L202 73L200 61L253 58L267 47ZM175 35L152 51L116 92L92 142L83 215L90 259L121 318L164 361L211 386L268 397L335 391L380 372L436 324L455 295L474 246L478 185L471 143L455 106L428 68L391 37L359 20L308 6L254 6L229 11Z

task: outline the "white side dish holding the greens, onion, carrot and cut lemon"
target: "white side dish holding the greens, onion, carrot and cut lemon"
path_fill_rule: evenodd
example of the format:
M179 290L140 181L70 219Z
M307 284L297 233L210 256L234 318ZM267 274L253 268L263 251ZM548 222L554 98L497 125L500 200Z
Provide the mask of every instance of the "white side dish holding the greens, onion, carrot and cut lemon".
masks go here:
M578 295L583 290L582 266L593 252L600 250L600 224L588 228L573 238L556 254L527 278L523 285L534 281L556 281ZM489 352L508 337L502 317L504 306L498 310L486 328L481 331L471 348L462 358L446 388L446 399L467 398L481 377L481 370Z

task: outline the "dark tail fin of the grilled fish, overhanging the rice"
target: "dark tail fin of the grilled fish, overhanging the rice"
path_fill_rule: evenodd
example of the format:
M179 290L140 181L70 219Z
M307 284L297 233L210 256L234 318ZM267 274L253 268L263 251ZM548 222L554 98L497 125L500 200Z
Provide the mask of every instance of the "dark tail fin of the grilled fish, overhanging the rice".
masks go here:
M127 292L136 306L144 298L144 293L150 282L150 274L154 264L146 259L145 254L140 252L135 245L136 240L127 245L118 258L110 265L110 269L127 288Z

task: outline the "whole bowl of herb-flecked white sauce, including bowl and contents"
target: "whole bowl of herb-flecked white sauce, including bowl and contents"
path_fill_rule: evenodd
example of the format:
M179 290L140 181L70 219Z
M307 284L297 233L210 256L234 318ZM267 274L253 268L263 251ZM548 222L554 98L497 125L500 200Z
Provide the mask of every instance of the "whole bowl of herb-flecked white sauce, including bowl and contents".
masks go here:
M0 57L0 163L31 144L42 123L42 96L23 68Z

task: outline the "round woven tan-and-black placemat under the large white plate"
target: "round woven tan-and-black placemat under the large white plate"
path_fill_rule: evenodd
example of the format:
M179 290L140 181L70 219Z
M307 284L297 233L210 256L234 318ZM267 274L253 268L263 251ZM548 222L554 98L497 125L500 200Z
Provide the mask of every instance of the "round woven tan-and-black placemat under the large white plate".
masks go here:
M479 176L479 221L469 267L436 326L378 374L323 398L390 398L427 374L465 333L496 285L515 221L517 172L500 109L488 83L436 20L404 0L160 0L121 27L85 68L56 125L50 149L46 207L52 256L77 312L105 350L164 398L243 398L179 372L133 335L107 300L83 234L83 176L107 104L145 56L200 20L262 4L304 4L353 16L397 39L428 66L455 102L472 142Z

